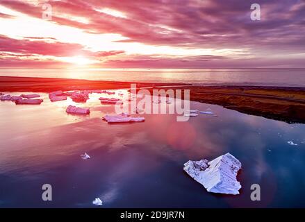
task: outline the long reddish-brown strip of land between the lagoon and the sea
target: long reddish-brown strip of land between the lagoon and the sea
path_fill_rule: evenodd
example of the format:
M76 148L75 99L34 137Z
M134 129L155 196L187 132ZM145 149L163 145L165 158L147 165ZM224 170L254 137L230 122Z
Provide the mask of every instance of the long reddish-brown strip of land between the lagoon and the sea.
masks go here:
M0 92L123 89L132 82L0 76ZM133 82L134 83L134 82ZM176 83L136 83L138 89L190 89L190 100L288 123L305 123L305 87L195 86Z

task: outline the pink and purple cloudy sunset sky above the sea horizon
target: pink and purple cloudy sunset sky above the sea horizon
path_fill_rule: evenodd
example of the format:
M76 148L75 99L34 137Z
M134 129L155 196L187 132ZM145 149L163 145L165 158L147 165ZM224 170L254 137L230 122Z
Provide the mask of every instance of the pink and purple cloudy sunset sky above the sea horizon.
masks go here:
M261 20L251 19L252 3ZM0 0L2 68L297 68L304 61L305 0Z

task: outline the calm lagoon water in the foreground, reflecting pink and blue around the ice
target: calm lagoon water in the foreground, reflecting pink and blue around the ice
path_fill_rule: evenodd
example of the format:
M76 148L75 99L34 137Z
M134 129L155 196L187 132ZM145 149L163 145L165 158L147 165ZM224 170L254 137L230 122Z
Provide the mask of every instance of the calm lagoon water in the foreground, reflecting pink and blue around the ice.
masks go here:
M66 114L74 102L51 103L47 94L42 105L0 102L0 207L94 207L97 197L102 207L305 207L305 125L197 102L192 109L218 117L145 114L144 123L109 125L101 117L114 108L99 96L81 104L87 117ZM242 162L238 196L208 193L183 171L188 160L226 152ZM41 198L46 183L51 202ZM250 200L254 183L259 203Z

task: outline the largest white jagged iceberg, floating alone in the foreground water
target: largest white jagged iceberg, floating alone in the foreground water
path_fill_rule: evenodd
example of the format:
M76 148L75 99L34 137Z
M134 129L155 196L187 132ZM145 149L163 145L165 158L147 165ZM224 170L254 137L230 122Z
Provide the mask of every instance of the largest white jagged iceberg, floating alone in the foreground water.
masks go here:
M184 164L183 170L199 182L207 191L219 194L239 194L240 182L236 180L242 164L230 153L208 162L191 161Z

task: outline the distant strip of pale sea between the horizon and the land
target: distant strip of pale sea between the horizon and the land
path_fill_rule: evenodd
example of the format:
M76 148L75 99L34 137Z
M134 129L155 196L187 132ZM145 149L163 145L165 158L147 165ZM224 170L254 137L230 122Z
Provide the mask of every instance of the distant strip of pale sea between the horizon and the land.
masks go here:
M305 87L305 69L0 69L0 76Z

